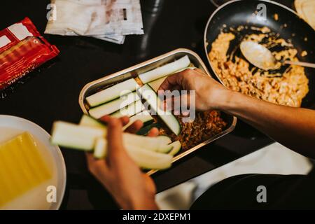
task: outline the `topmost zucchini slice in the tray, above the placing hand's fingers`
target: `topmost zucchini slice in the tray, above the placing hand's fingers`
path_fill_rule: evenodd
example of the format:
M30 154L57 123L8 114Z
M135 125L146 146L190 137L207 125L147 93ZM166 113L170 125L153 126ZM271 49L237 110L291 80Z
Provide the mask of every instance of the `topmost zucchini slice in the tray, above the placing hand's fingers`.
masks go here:
M190 59L186 55L176 60L175 62L165 64L163 66L158 67L157 69L153 69L151 71L147 71L139 75L142 83L149 83L152 80L156 80L158 78L162 78L164 76L169 75L170 73L174 73L180 69L184 69L190 65Z

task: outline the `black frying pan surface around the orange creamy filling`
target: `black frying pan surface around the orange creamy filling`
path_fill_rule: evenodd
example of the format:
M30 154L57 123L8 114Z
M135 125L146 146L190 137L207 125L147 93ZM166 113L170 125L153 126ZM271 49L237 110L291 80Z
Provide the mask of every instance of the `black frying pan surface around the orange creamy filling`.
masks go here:
M265 5L265 19L253 16L253 13L261 11L261 8L258 8L259 4ZM274 19L275 14L279 15L278 20ZM314 29L312 29L307 22L304 22L295 11L280 3L267 0L235 0L225 3L217 8L209 18L204 32L204 48L206 54L208 55L210 52L211 43L216 40L221 31L230 32L230 27L237 28L239 26L269 27L272 32L279 34L281 38L290 40L293 43L298 51L297 58L300 61L315 63ZM240 54L238 48L241 40L246 34L252 33L255 33L255 31L251 29L244 29L234 33L236 38L234 41L231 41L228 54L235 50ZM300 56L303 50L307 50L308 53L305 57ZM211 66L209 57L207 58ZM282 69L284 70L286 68L283 67ZM223 83L212 66L211 73L214 73L216 78ZM304 97L302 107L315 109L315 69L305 68L305 73L309 79L309 93Z

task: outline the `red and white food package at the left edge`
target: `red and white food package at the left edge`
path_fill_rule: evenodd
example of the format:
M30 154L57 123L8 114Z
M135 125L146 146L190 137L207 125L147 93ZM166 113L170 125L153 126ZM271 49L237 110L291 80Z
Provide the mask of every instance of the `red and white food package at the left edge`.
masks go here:
M25 18L0 31L0 90L56 57L59 50Z

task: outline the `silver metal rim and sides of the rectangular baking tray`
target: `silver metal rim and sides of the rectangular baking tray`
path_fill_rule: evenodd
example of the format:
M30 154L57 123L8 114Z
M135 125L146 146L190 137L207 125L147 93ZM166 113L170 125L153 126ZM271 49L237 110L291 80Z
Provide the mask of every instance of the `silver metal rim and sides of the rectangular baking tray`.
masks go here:
M107 87L110 87L111 85L120 83L123 80L127 80L128 78L134 78L140 73L144 73L151 69L155 69L156 67L161 66L162 64L173 62L175 59L179 59L185 55L188 55L190 62L192 62L197 68L202 69L205 73L207 73L210 76L210 73L207 67L204 65L204 62L202 62L202 59L200 59L200 57L195 52L193 52L192 50L179 48L171 52L167 52L165 55L149 59L146 62L142 62L128 69L118 71L109 76L105 76L104 78L99 78L98 80L94 80L91 83L87 83L87 85L85 85L85 87L83 87L83 89L80 92L79 96L80 108L82 109L83 113L88 114L87 111L89 108L87 103L85 102L86 97L89 97L91 94L94 94L99 90L104 90ZM180 160L186 155L193 153L194 151L197 151L197 149L201 148L202 146L205 146L211 143L212 141L215 141L216 139L223 137L225 134L232 132L232 130L235 129L237 118L223 112L221 112L221 117L223 118L223 120L225 120L225 122L228 123L227 127L225 128L225 130L223 130L223 132L216 134L214 137L211 137L207 141L204 141L201 144L198 144L197 146L190 148L189 150L180 152L173 158L173 162ZM153 174L155 172L156 171L151 170L150 172L148 172L148 174Z

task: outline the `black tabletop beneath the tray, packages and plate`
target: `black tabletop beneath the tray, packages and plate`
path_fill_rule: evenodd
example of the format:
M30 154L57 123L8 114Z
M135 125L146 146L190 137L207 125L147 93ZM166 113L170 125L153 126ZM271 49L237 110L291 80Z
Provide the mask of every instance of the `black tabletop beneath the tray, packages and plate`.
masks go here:
M3 1L0 28L27 16L43 34L48 3L47 0ZM292 1L282 3L290 6ZM26 118L50 132L55 120L78 123L82 116L78 95L92 80L176 48L194 50L207 64L203 50L204 27L215 9L209 0L141 1L146 34L127 36L124 45L94 38L45 35L50 43L57 45L60 55L30 73L14 85L13 90L2 92L0 113ZM160 192L271 143L264 134L239 121L231 134L204 146L153 178ZM115 208L111 197L87 172L85 155L63 148L62 154L67 170L62 209Z

